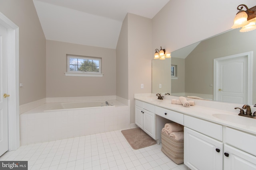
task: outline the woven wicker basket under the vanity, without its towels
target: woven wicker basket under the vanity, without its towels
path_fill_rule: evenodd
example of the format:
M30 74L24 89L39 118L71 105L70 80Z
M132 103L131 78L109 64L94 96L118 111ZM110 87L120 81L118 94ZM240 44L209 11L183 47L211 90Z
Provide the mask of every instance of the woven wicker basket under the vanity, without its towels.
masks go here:
M184 140L177 141L164 132L161 132L161 138L162 152L176 164L182 164L184 162Z

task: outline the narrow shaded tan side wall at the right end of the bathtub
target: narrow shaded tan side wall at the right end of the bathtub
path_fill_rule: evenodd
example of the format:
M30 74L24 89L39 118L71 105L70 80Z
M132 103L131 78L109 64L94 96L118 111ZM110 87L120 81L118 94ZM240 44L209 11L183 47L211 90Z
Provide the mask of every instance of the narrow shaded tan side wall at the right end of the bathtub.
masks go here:
M128 15L122 23L116 46L116 95L128 99Z

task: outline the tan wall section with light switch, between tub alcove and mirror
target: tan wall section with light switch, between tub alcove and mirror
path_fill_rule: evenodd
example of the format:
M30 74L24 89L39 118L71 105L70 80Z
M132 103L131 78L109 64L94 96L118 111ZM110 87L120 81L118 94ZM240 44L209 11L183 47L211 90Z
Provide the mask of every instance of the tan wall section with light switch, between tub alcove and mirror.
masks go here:
M128 77L130 122L135 122L134 94L150 93L152 48L152 20L128 14ZM144 88L140 88L144 84Z

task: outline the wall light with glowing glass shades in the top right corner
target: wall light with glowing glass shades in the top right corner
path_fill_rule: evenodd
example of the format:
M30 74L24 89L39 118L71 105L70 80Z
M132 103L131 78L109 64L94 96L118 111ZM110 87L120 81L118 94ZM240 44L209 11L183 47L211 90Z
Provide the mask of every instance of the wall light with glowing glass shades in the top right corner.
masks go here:
M246 8L246 11L242 10L243 7ZM256 6L248 9L246 5L241 4L237 7L237 10L239 11L234 18L234 25L231 28L235 29L242 27L240 32L247 32L256 29Z

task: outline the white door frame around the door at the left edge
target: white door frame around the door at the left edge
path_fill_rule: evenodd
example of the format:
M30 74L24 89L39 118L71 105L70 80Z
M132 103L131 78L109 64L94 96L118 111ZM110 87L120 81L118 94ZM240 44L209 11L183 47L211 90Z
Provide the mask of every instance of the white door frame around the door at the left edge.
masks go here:
M0 25L7 28L8 60L8 150L20 147L19 27L0 12Z

